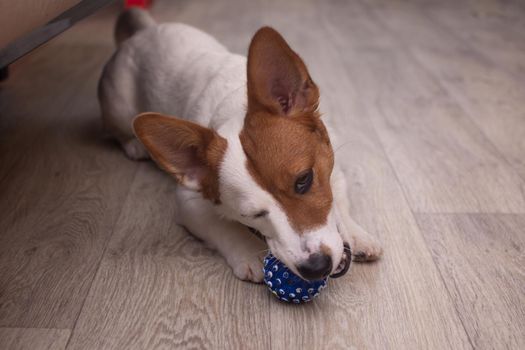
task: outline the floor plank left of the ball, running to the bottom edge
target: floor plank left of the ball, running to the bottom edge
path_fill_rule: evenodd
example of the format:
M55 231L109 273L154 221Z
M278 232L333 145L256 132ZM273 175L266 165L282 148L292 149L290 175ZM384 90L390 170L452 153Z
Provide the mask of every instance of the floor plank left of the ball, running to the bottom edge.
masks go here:
M269 294L176 225L174 187L140 166L68 349L269 348Z

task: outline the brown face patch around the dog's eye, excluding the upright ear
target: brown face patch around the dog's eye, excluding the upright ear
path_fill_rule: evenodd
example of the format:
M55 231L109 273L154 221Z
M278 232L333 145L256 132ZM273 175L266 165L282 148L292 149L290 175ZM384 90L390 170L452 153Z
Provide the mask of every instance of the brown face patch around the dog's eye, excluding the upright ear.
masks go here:
M281 204L292 226L304 232L326 223L334 157L321 120L312 131L300 119L257 114L245 122L240 139L250 174ZM312 187L297 194L297 176L308 169L314 172Z

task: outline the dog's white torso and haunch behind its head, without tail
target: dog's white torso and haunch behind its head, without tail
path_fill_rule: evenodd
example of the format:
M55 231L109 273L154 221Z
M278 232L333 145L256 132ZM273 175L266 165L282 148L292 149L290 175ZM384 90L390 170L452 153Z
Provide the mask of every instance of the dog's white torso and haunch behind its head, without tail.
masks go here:
M246 113L246 58L190 26L160 24L120 46L105 68L100 96L104 122L130 158L148 157L132 127L144 111L222 129L221 135L239 134Z

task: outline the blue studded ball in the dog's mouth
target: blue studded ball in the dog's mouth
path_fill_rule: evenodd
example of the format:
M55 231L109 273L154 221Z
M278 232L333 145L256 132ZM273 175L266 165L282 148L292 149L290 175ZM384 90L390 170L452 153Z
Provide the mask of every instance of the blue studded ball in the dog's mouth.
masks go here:
M326 287L327 279L305 281L294 274L271 253L264 258L264 283L277 299L301 304L316 298Z

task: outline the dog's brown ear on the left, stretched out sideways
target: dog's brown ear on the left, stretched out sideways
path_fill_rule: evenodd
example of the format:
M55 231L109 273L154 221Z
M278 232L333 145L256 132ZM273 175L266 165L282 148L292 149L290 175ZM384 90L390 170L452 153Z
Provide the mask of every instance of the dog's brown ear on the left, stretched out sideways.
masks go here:
M215 131L158 113L142 113L133 129L155 162L182 185L218 199L218 167L227 141Z

